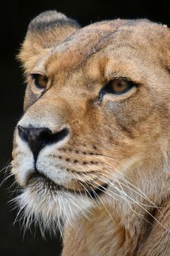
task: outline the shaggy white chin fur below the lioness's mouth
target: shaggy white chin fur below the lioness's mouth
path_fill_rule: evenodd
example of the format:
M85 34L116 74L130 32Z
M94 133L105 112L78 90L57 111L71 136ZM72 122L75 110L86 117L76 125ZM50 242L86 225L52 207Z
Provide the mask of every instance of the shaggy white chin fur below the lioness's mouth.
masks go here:
M15 202L20 208L18 219L23 219L24 228L30 227L34 222L39 225L42 234L45 230L50 233L60 230L62 235L63 223L74 225L78 216L88 217L93 207L92 200L85 195L66 191L50 192L36 184L23 189Z

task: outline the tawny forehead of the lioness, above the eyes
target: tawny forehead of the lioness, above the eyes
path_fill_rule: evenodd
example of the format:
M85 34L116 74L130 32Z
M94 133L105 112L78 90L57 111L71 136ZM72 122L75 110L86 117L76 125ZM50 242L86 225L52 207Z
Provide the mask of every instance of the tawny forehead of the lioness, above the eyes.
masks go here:
M166 28L148 20L111 20L94 23L72 34L57 47L51 49L39 64L49 73L69 72L82 67L86 60L98 53L119 54L132 58L150 51L150 59L158 51L163 52ZM165 45L164 45L165 46ZM111 52L110 52L111 50ZM160 55L160 54L159 54ZM107 56L108 57L108 56Z

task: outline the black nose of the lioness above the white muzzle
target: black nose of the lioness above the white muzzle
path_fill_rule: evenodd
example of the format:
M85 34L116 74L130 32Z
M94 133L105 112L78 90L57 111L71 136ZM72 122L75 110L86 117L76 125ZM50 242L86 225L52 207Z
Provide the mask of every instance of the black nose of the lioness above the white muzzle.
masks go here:
M47 144L57 143L58 141L63 140L63 138L69 134L69 129L64 128L60 132L53 133L50 129L45 127L26 128L18 125L18 133L20 138L28 143L34 155L34 159L36 160L39 151L42 148L44 148Z

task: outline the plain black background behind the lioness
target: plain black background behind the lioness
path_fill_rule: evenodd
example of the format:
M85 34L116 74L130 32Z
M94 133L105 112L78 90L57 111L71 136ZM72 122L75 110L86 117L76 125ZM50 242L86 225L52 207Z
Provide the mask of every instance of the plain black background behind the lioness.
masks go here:
M15 56L20 42L26 34L28 23L39 12L58 10L80 22L82 26L91 22L114 18L149 18L170 26L169 7L163 1L5 1L0 4L0 169L10 161L12 131L22 114L23 76ZM4 171L0 173L0 183ZM57 256L61 250L58 238L42 239L39 230L32 229L23 236L20 224L13 225L17 211L7 203L15 187L9 189L13 179L9 178L0 187L0 255L50 255ZM69 256L69 255L68 255ZM87 255L88 256L88 255ZM97 255L96 255L97 256Z

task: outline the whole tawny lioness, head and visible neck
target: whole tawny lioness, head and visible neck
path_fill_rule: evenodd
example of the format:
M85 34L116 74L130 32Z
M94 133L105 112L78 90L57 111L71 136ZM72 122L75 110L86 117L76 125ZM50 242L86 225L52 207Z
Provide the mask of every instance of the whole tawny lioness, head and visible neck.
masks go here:
M80 29L43 12L19 59L28 86L12 173L26 226L59 228L62 256L170 255L169 29Z

